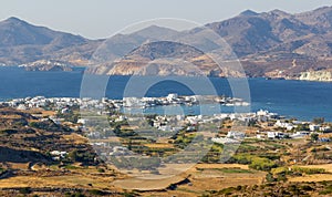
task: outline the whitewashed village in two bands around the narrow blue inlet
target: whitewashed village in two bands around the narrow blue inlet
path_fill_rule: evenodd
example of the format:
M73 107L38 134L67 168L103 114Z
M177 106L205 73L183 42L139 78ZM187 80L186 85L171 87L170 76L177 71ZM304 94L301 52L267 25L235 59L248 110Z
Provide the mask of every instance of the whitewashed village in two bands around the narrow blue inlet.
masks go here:
M97 110L98 114L110 115L110 122L135 122L139 120L137 115L126 115L122 108L136 108L136 107L154 107L156 105L199 105L206 103L218 103L226 106L248 106L249 103L241 98L231 98L226 96L178 96L177 94L168 94L166 97L124 97L123 100L93 100L93 98L74 98L74 97L51 97L44 96L14 98L8 102L0 102L0 105L8 105L17 110L27 111L31 108L46 108L50 111L56 111L58 114L69 114L73 108L81 110ZM118 113L114 114L111 111ZM35 116L39 116L35 114ZM59 115L49 116L54 123L61 124L65 120L59 117ZM298 120L287 120L286 117L271 113L269 111L260 110L258 112L250 113L218 113L214 115L155 115L151 126L166 132L178 132L180 129L194 131L198 124L220 122L225 120L240 121L245 123L259 123L260 129L257 129L256 135L238 134L234 135L236 131L230 131L227 135L228 138L239 137L257 137L257 138L304 138L311 134L323 134L332 131L329 123L324 123L324 120L313 120L313 122L303 122ZM89 122L84 117L72 122L82 128ZM173 123L169 124L169 123ZM176 123L176 124L174 124ZM90 135L100 136L97 132L93 132ZM329 138L319 138L319 141L329 141Z

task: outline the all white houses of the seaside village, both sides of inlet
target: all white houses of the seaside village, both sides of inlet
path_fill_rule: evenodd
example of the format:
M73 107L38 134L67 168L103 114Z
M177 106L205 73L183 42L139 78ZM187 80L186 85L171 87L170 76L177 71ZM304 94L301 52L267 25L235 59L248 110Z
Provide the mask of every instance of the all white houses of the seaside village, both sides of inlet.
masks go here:
M143 98L125 97L124 100L108 100L108 98L94 100L94 98L74 98L74 97L46 98L44 96L35 96L35 97L15 98L8 102L3 102L2 104L17 107L18 110L52 106L53 110L58 110L61 113L66 113L71 106L76 105L80 106L81 108L94 108L94 110L100 110L101 113L108 113L107 111L105 111L105 106L112 108L121 108L121 107L137 107L137 106L153 107L155 105L169 105L169 104L191 105L191 104L197 104L200 101L217 102L220 104L246 105L246 103L239 98L230 98L225 96L222 97L198 96L198 95L178 96L177 94L169 94L166 97L143 97ZM137 118L138 117L131 117L123 114L123 115L116 115L116 117L113 118L113 121L134 122L137 121ZM152 126L164 132L167 131L178 132L180 129L194 131L195 126L198 124L215 123L226 118L231 121L234 120L242 121L246 123L250 121L256 121L260 123L267 123L267 122L273 123L272 126L274 126L277 129L258 132L256 136L257 138L284 138L284 137L301 138L310 135L313 132L329 132L331 129L331 127L325 124L320 125L320 124L313 124L309 122L284 120L281 118L277 113L270 113L263 110L260 110L256 113L219 113L215 115L175 115L175 116L156 115L154 120L152 120L153 122ZM54 118L54 122L58 123L58 120ZM80 118L77 121L77 123L83 126L86 124L86 122L89 122L89 120L85 118ZM305 131L295 129L301 125L307 125L309 129ZM100 134L95 131L91 135L100 136ZM226 137L232 139L229 142L234 142L234 139L239 137L238 135L242 136L241 134L235 135L231 133L229 134L229 136ZM245 135L242 137L245 137ZM219 139L216 138L214 141L219 142Z

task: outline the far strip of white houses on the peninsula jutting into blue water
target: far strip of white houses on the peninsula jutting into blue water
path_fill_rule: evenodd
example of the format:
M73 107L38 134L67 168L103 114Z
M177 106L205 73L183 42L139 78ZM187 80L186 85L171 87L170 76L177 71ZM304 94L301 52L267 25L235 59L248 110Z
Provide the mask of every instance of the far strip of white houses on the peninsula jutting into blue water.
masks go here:
M102 100L94 98L77 98L77 97L51 97L44 96L14 98L0 104L7 104L19 110L27 110L33 107L45 107L52 105L56 110L65 110L68 106L80 105L81 108L103 108L105 105L114 108L122 107L154 107L157 105L195 105L199 103L219 103L221 105L249 105L249 103L241 98L214 96L214 95L190 95L179 96L175 93L168 94L166 97L124 97L123 100Z

